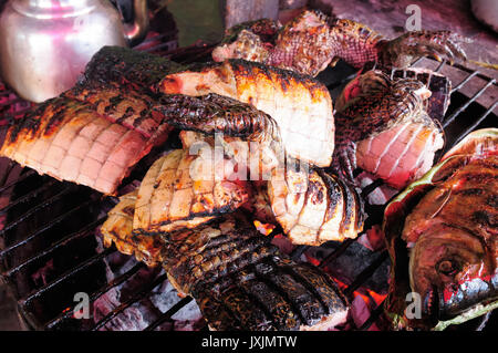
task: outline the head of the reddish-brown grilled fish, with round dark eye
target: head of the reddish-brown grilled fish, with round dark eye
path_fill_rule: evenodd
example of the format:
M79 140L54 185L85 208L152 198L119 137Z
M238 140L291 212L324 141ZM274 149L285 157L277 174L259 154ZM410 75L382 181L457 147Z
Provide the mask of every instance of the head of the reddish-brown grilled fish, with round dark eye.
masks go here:
M409 282L422 318L437 323L498 299L492 250L465 229L438 225L423 233L409 259Z

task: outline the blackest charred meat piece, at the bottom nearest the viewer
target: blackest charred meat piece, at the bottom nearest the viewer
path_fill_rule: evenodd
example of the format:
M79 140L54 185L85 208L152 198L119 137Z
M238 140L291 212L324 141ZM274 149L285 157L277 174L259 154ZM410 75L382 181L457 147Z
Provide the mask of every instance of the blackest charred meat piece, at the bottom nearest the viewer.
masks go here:
M282 256L198 288L199 308L217 331L331 330L347 315L347 301L326 273Z

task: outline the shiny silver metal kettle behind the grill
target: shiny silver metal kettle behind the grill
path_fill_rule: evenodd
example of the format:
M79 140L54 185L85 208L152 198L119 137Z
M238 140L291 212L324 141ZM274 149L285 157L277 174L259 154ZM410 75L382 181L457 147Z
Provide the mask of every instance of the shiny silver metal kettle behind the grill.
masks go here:
M102 46L144 39L147 1L133 7L133 23L123 23L108 0L10 0L0 14L1 79L28 101L59 95Z

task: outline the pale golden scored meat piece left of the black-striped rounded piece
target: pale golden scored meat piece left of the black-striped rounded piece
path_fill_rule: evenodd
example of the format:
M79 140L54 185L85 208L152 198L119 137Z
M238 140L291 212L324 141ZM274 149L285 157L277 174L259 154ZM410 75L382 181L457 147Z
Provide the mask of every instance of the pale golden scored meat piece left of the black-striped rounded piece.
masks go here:
M215 160L209 145L197 155L176 149L157 159L138 190L134 231L194 228L237 209L248 200L249 190L225 164Z

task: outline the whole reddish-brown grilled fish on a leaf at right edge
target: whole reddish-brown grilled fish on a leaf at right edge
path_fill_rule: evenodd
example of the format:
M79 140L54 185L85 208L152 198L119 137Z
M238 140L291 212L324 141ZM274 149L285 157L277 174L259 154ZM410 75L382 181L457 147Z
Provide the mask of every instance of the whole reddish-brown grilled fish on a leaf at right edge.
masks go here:
M396 325L440 330L498 305L497 143L496 128L470 134L387 206L384 231L396 260L387 308ZM402 314L404 291L422 297L419 318Z

